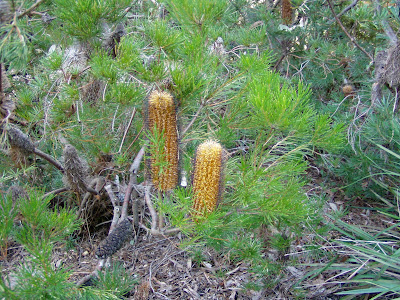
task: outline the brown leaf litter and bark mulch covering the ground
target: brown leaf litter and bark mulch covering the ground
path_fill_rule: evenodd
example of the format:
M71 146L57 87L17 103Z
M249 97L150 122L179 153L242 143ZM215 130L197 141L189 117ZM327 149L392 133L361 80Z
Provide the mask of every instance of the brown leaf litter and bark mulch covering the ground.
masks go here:
M349 206L349 199L342 191L323 191L318 176L313 175L309 192L326 194L327 202L323 209L325 214L337 215L348 210L342 216L342 220L348 223L376 228L391 225L389 219L365 209L368 203L356 200ZM113 261L121 263L138 280L129 299L338 299L334 293L341 287L338 282L340 278L335 278L337 273L333 271L307 278L299 285L300 290L293 288L312 269L311 264L321 264L322 267L329 262L329 255L322 255L323 252L342 255L340 247L333 242L338 237L335 232L320 237L307 229L304 235L293 240L287 253L267 249L265 255L272 262L284 264L284 267L279 273L277 284L271 282L270 288L257 290L248 288L260 282L250 265L244 262L235 264L212 249L204 249L202 259L195 260L191 253L179 247L182 242L180 234L156 237L141 230L135 240L126 243L113 255ZM73 250L66 251L65 246L56 248L54 267L71 268L73 273L70 280L79 281L95 269L98 262L95 252L100 241L101 237L96 236L79 242ZM317 245L320 255L315 255L310 245ZM28 253L22 247L11 244L7 261L0 261L2 271L13 274L24 262L26 255ZM13 278L11 276L11 285L15 281Z

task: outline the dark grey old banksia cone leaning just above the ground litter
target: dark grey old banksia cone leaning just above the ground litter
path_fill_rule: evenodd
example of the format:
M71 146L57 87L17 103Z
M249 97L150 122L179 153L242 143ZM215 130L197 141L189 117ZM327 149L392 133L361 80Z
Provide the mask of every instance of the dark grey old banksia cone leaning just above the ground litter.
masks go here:
M124 245L125 240L132 234L132 224L128 219L119 223L103 240L96 250L96 256L104 259L117 252Z

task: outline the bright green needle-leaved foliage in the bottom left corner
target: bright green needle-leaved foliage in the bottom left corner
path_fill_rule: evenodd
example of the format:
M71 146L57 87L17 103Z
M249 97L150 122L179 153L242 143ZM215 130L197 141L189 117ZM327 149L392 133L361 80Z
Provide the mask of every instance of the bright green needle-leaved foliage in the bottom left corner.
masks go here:
M68 282L69 271L52 266L52 250L56 242L63 241L79 228L73 211L50 210L51 197L43 198L40 191L20 198L18 212L22 225L15 231L18 241L30 254L25 265L19 268L16 287L11 290L1 279L0 297L7 299L67 299L73 284ZM6 277L5 277L6 278ZM10 278L8 278L10 279Z

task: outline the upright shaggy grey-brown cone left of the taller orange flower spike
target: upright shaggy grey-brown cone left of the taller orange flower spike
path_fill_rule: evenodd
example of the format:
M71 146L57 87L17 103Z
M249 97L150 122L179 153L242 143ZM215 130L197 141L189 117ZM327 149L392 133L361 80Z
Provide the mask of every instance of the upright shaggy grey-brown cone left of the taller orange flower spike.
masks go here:
M74 192L79 194L86 193L88 178L86 164L72 145L66 145L63 154L64 184L68 185Z

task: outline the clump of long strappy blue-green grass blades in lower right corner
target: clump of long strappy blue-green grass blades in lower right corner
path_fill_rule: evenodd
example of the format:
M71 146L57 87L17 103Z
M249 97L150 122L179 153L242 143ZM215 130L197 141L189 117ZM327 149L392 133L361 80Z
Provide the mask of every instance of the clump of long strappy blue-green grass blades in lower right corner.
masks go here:
M393 276L400 272L400 250L395 246L400 239L399 224L384 230L364 230L337 220L333 228L343 235L337 243L349 258L343 263L334 261L329 269L351 274L351 279L343 281L344 291L337 294L349 295L346 299L366 294L374 295L373 299L400 295L400 281Z

